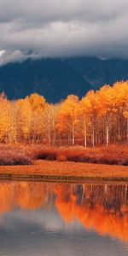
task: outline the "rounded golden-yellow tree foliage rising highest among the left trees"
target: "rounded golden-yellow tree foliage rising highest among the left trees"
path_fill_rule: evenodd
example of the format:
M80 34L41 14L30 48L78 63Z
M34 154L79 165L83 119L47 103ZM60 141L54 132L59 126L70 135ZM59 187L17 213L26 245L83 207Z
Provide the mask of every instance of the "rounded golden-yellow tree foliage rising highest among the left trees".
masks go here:
M18 110L18 130L20 137L29 139L42 134L44 109L48 107L44 96L33 93L16 102Z

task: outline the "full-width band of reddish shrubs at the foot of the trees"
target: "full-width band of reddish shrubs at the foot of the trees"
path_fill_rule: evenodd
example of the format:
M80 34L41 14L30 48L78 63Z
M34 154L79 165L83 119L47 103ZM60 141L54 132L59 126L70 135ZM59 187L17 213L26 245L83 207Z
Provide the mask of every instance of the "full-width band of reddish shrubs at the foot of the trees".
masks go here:
M0 146L0 166L30 165L33 160L128 166L128 145L98 148L44 148L40 145Z

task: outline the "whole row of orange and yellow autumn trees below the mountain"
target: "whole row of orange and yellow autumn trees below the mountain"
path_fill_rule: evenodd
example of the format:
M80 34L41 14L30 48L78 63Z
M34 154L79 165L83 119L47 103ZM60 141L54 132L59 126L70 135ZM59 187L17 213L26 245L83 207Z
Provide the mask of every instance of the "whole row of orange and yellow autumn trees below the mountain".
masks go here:
M56 104L32 93L11 101L0 95L0 143L95 147L128 143L128 81L69 95Z

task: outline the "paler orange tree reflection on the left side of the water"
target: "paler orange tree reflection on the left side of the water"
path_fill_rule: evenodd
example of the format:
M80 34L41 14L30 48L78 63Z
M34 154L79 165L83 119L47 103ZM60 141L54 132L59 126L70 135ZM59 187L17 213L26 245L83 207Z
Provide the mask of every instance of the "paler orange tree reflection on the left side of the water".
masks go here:
M1 182L0 213L10 212L15 207L36 210L42 206L49 208L51 188L48 183Z

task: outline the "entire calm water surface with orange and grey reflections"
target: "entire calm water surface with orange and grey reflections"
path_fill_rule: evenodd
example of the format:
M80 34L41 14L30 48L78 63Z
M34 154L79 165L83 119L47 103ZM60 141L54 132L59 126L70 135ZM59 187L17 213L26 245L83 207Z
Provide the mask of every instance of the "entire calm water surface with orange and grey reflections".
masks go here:
M0 255L128 255L128 186L1 182Z

